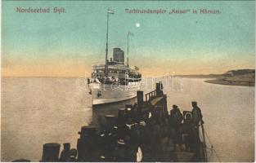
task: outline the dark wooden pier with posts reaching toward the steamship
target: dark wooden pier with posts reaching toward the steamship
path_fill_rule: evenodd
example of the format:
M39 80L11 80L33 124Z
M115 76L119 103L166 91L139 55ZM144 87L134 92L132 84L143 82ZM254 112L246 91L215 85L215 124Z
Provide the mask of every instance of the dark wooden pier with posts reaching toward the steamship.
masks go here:
M173 141L161 82L146 95L137 91L137 104L127 104L117 116L108 114L105 118L101 129L81 127L77 148L65 146L60 153L59 143L44 144L41 161L207 161L200 136L190 151Z

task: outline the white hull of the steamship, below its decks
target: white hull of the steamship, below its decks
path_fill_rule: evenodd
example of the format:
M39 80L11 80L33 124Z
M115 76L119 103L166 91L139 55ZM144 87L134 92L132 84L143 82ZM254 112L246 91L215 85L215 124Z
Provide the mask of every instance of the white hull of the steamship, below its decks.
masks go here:
M141 89L141 81L131 82L128 86L107 85L101 83L89 84L92 94L92 105L110 104L137 96L137 90Z

